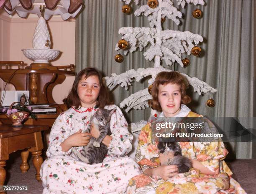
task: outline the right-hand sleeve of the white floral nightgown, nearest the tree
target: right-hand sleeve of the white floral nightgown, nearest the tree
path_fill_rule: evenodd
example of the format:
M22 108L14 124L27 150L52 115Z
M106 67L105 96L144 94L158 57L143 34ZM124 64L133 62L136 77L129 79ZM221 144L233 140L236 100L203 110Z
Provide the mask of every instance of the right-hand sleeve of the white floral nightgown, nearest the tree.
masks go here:
M108 154L125 156L132 149L133 135L128 131L128 123L118 106L111 105L105 107L107 109L115 108L115 112L111 116L110 130L112 132L112 140L108 146Z

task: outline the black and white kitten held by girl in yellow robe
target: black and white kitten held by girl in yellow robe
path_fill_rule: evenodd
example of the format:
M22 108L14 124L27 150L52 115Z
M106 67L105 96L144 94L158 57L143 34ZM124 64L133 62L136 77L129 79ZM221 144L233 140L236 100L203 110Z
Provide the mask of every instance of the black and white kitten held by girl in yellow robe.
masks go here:
M163 139L164 138L162 138L161 140ZM157 145L157 148L159 149L159 154L162 153L167 155L168 152L174 152L174 157L169 158L167 163L163 165L177 165L179 173L187 172L190 168L192 168L192 162L189 158L182 156L182 150L176 141L161 141Z

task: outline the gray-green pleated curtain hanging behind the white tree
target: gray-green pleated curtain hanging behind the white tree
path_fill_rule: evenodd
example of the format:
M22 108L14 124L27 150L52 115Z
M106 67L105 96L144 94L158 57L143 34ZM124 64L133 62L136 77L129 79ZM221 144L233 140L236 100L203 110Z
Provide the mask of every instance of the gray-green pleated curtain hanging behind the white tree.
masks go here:
M121 27L149 27L146 17L125 15L120 0L85 0L85 9L76 20L76 71L86 67L95 67L104 76L111 73L123 73L129 69L154 66L153 61L145 60L143 52L136 51L124 56L123 63L117 63L114 56L115 44L120 40L118 30ZM146 4L142 0L141 4ZM175 5L177 2L174 1ZM169 66L175 71L197 77L218 90L215 94L199 96L189 88L193 102L189 104L192 111L211 117L237 116L246 128L252 128L252 118L256 115L253 102L254 73L254 0L205 0L205 5L186 5L182 11L181 25L166 19L163 29L189 30L203 36L204 42L199 46L199 57L189 55L190 66L182 68L178 64ZM135 3L133 10L138 8ZM176 6L178 7L178 6ZM196 19L192 12L202 10L203 17ZM122 51L120 51L123 54ZM163 62L163 66L166 67ZM255 81L254 81L255 82ZM254 84L255 86L255 84ZM147 87L147 81L133 83L128 91L118 86L112 92L112 99L119 105L124 98ZM206 106L209 98L215 100L215 107ZM125 111L123 111L125 112ZM254 112L254 114L253 114ZM130 111L125 116L128 122L147 120L150 109ZM246 119L247 118L247 119ZM230 142L230 149L237 158L255 157L256 144L252 142Z

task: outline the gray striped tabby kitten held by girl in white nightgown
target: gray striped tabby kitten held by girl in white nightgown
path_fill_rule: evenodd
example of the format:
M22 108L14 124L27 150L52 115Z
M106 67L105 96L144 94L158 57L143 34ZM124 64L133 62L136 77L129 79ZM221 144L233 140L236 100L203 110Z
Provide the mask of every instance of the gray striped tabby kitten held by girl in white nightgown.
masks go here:
M100 131L100 136L95 139L91 137L89 144L84 146L79 152L72 148L72 153L79 158L80 161L84 161L87 164L98 164L103 161L105 156L108 154L108 146L102 144L102 140L106 135L111 135L110 131L110 119L115 109L99 108L95 115L90 119L90 123L86 129L86 133L90 133L91 123L94 127Z

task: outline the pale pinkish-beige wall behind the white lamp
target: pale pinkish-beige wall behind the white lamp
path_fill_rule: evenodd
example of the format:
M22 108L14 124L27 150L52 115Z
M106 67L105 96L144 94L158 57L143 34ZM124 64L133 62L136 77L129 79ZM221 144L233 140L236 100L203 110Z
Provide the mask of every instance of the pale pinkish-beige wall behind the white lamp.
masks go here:
M28 18L19 18L18 15L10 17L3 10L0 12L0 60L23 60L26 65L32 63L23 55L21 49L32 48L34 29L37 16L29 15ZM51 35L51 48L61 50L60 57L51 62L53 66L74 64L75 47L75 20L64 21L60 16L54 16L47 21ZM53 98L56 103L62 103L72 87L74 76L67 77L64 83L53 89ZM1 90L5 82L0 81ZM8 86L7 90L15 90Z

